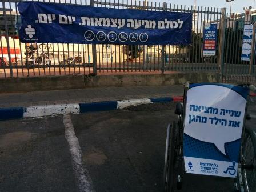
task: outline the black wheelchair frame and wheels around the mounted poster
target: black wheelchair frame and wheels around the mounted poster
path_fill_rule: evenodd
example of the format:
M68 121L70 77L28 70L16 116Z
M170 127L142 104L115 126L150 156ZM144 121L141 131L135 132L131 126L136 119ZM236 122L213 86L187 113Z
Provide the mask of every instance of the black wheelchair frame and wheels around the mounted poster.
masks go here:
M207 84L207 83L206 83ZM211 83L209 83L211 84ZM217 83L215 83L217 84ZM236 85L235 87L245 87L247 90L255 92L253 85ZM187 105L187 93L190 84L185 83L184 97L182 103L176 103L175 114L178 119L167 126L166 149L165 149L165 165L163 170L163 191L173 192L182 189L182 175L187 173L184 158L184 129ZM246 125L246 120L250 120L247 114L247 105L250 104L250 96L247 95L245 113L242 126L242 134L238 152L237 169L235 162L231 162L226 170L222 170L222 174L229 174L234 178L234 191L251 192L256 191L256 128ZM193 167L189 161L188 169ZM219 175L215 175L219 176ZM223 176L223 175L222 175ZM223 176L225 177L225 176Z

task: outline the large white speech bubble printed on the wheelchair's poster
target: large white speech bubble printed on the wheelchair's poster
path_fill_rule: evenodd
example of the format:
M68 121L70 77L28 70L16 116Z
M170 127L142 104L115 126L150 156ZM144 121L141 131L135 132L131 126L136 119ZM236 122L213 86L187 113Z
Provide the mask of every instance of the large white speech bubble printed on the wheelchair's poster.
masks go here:
M193 110L190 105L203 107L199 107L200 110ZM227 87L215 85L193 87L187 93L184 133L199 141L214 143L222 154L227 155L225 143L241 138L245 106L246 99ZM205 113L205 107L214 108L214 113ZM241 113L239 117L235 115L231 117L230 113L221 114L223 110L241 111ZM190 121L189 115L195 115L193 117L198 118L198 121ZM204 120L201 121L202 119ZM231 125L229 121L240 123L239 126L229 126Z

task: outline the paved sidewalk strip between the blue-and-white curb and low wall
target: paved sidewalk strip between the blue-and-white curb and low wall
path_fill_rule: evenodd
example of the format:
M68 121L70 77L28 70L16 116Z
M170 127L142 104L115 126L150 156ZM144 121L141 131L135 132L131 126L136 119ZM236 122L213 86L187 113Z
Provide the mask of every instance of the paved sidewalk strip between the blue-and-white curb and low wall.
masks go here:
M0 107L27 107L183 95L183 85L87 88L0 94Z

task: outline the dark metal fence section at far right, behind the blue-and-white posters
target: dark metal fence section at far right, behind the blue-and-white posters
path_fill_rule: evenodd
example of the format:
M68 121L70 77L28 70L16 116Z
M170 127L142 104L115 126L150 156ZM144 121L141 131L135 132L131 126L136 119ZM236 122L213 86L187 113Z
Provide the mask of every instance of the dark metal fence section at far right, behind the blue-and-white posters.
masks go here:
M225 17L225 49L222 62L222 81L231 83L255 82L255 53L251 50L250 61L242 61L243 27L253 24L255 16L245 14L226 14ZM255 27L254 27L255 31ZM255 34L253 35L255 37ZM253 41L255 38L253 38ZM255 45L255 42L252 43Z

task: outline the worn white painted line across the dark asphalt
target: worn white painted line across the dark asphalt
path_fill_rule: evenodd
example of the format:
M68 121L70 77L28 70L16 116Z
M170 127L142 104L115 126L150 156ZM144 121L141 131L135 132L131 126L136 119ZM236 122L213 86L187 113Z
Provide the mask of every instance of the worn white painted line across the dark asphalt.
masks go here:
M63 116L63 123L65 126L65 137L69 143L75 177L77 178L78 190L79 192L91 192L93 191L91 178L88 171L85 169L85 165L83 165L82 150L78 138L75 136L74 126L70 115Z

